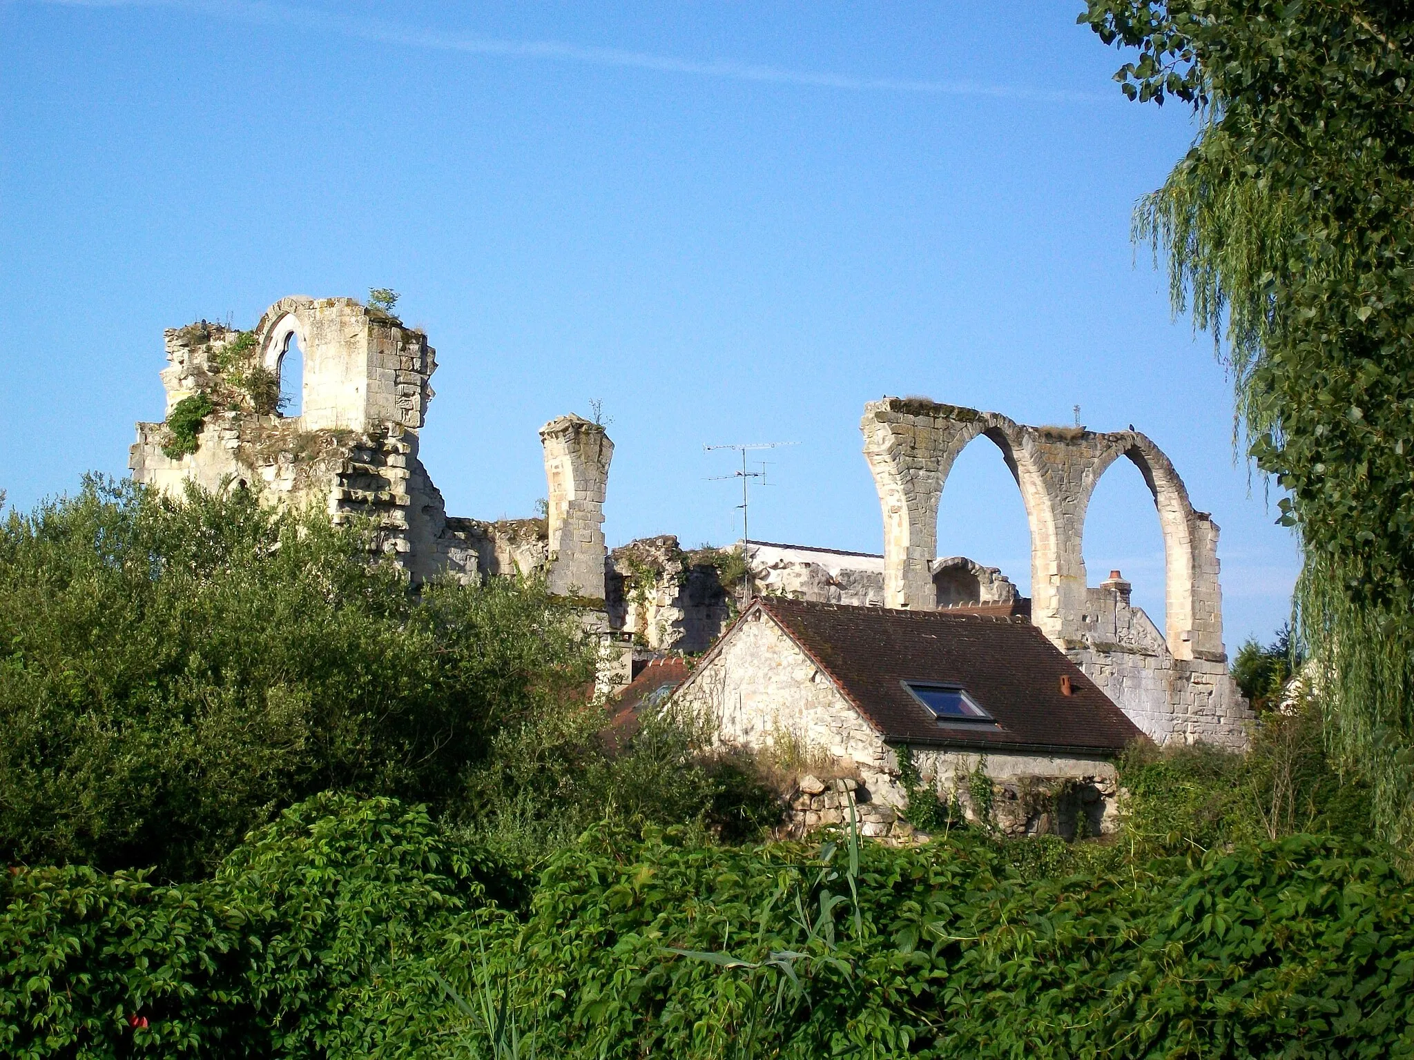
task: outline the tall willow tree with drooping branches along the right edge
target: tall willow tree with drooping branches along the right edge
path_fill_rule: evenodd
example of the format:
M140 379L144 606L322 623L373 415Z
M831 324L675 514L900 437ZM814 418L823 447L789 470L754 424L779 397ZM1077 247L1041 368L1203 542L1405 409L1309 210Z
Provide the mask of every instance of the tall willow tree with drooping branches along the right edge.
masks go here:
M1126 96L1199 133L1134 235L1212 332L1285 489L1332 749L1414 849L1414 7L1089 0Z

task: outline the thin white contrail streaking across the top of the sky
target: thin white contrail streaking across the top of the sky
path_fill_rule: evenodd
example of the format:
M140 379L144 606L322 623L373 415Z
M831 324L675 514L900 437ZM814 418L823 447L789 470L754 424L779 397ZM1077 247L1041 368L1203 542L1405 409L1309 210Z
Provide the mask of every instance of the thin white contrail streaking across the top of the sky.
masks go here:
M1109 98L1099 93L1044 90L974 81L915 81L908 78L865 78L848 73L817 73L783 69L732 59L682 59L672 55L600 48L567 41L508 41L474 34L420 30L373 18L361 18L311 7L291 7L264 0L38 0L58 7L168 7L230 21L260 25L298 25L337 33L378 44L396 44L428 51L493 55L518 59L550 59L594 66L689 73L727 81L755 81L775 85L802 85L854 92L896 92L933 96L993 96L1046 103L1094 103Z

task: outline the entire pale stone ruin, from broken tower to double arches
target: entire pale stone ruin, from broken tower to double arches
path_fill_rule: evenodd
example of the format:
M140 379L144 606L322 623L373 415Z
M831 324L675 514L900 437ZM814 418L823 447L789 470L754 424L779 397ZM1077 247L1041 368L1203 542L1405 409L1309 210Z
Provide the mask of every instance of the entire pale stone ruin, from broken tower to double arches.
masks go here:
M297 345L296 345L297 343ZM133 478L170 493L259 488L279 505L315 505L335 523L370 520L376 547L417 581L542 575L609 650L601 687L626 684L663 653L706 650L752 592L888 608L1029 613L1158 742L1239 745L1250 717L1227 674L1217 526L1196 512L1167 457L1137 431L1025 427L997 413L887 397L865 406L864 455L884 516L884 554L744 541L684 551L672 536L612 553L602 522L614 444L561 416L540 428L547 499L540 517L452 517L419 458L437 369L427 336L354 298L283 298L252 332L199 322L165 332L167 413L206 396L195 451L165 423L137 425ZM281 416L287 358L304 372L301 411ZM936 555L937 506L962 449L984 435L1015 478L1031 524L1032 598L994 567ZM173 455L168 455L171 449ZM1100 475L1120 457L1144 475L1164 531L1168 618L1131 606L1118 572L1090 587L1080 550Z

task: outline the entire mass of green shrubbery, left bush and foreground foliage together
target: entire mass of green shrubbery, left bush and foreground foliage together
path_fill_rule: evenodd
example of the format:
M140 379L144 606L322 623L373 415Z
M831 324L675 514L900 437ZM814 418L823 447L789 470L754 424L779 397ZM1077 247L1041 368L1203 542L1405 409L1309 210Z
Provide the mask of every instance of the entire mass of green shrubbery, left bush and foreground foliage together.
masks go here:
M1135 749L1118 842L935 799L922 847L756 845L751 763L605 741L539 587L369 544L243 490L8 514L0 1053L1414 1054L1414 890L1314 708Z

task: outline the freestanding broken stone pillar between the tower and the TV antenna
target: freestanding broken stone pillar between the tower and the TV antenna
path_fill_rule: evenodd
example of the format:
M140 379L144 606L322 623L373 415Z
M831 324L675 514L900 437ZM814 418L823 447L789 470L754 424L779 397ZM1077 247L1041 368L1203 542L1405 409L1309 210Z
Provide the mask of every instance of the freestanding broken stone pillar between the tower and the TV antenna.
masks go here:
M604 490L614 442L578 416L547 423L540 442L550 490L550 592L602 601Z

